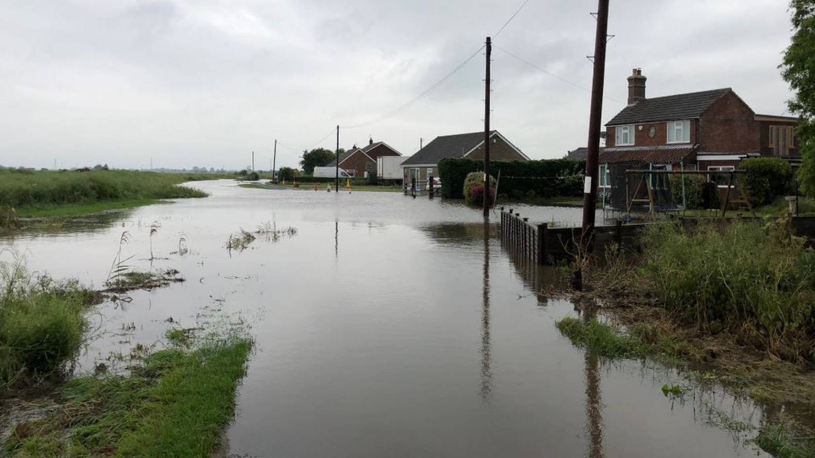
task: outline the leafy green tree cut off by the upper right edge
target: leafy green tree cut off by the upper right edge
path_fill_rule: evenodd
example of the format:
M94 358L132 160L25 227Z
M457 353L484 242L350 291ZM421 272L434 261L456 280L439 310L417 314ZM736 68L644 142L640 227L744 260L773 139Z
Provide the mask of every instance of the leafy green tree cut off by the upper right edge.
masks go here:
M795 136L804 160L798 172L801 189L815 194L815 0L792 0L790 10L794 33L780 68L795 92L787 107L800 117Z

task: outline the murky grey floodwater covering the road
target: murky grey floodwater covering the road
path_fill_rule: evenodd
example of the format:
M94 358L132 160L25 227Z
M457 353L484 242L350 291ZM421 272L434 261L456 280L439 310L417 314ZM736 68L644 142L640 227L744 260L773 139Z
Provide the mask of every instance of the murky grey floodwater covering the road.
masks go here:
M228 429L234 456L764 456L711 419L756 424L750 404L721 390L672 399L662 385L685 383L672 369L571 346L554 323L574 306L537 294L550 272L501 247L497 214L485 225L478 210L399 193L192 186L211 196L0 247L99 287L126 231L128 264L186 278L99 306L77 372L161 348L170 327L248 325L258 346ZM519 211L564 224L582 212ZM297 234L224 248L263 222Z

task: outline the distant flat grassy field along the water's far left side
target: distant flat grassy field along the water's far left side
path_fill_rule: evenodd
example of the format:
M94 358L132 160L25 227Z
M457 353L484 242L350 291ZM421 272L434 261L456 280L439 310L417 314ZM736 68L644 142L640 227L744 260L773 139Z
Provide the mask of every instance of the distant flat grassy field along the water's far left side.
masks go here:
M149 205L160 199L205 197L179 183L221 174L157 174L131 170L0 170L0 227L16 218L69 217Z

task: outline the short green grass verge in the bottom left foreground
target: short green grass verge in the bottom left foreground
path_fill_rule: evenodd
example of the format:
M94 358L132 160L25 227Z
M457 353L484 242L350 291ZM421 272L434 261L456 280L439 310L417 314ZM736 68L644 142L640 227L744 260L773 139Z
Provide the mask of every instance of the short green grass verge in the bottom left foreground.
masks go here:
M208 458L235 413L253 342L209 341L161 350L129 376L68 382L68 403L45 420L15 425L12 458Z

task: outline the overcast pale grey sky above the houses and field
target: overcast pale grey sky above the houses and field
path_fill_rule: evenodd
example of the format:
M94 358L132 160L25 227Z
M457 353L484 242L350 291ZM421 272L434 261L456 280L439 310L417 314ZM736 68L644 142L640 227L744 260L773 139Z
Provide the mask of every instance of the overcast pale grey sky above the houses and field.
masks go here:
M328 134L391 112L449 73L522 0L4 0L0 164L296 165ZM643 68L648 96L733 87L785 113L786 0L611 0L603 121ZM585 146L596 0L531 0L494 41L493 127L535 159ZM373 126L405 155L419 138L482 130L481 54ZM333 135L319 146L333 148Z

